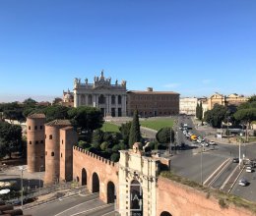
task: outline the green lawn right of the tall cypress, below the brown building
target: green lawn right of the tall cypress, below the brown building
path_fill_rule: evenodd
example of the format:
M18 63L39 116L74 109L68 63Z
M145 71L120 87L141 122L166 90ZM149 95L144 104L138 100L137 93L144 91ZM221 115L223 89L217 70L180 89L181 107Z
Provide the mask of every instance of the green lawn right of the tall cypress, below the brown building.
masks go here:
M173 122L174 122L173 119L156 119L156 120L140 121L140 124L142 127L159 131L161 128L164 128L164 127L172 128Z

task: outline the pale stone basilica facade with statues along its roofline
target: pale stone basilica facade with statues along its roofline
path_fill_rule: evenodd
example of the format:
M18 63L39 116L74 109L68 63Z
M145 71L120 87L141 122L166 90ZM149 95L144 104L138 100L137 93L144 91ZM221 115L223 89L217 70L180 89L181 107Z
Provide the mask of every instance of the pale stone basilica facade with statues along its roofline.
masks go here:
M115 81L105 78L103 71L95 77L93 83L88 79L74 81L74 107L92 106L101 110L104 117L126 116L126 81Z

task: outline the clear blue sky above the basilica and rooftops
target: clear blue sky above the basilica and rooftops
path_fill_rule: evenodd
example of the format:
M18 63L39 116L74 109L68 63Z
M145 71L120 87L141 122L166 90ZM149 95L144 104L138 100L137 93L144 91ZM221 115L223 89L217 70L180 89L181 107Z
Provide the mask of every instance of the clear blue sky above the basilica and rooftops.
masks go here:
M102 69L129 90L256 93L256 1L0 0L0 101Z

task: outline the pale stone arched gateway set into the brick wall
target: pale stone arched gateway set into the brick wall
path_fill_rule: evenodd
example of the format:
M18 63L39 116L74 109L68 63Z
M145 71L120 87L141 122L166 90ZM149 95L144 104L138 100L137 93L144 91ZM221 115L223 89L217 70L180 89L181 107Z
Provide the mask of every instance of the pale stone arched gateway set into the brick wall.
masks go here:
M169 164L169 159L166 159ZM119 213L157 215L157 175L160 159L145 156L140 142L133 150L121 150L119 159Z

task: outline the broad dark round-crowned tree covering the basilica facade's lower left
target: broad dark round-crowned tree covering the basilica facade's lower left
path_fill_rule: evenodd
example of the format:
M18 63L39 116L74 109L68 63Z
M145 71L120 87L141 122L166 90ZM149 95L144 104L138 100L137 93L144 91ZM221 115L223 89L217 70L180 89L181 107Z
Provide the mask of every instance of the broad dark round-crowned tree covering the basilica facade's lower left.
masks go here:
M103 125L103 117L95 107L80 106L68 111L69 119L75 128L93 133Z

